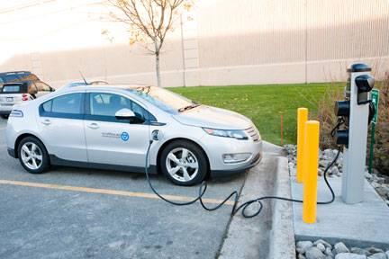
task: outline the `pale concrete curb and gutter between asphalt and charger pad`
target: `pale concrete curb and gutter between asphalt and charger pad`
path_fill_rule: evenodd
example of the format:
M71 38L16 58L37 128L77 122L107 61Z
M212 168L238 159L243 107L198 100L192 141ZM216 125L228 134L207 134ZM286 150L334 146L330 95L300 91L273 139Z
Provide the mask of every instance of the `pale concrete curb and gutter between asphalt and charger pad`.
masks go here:
M290 183L284 148L265 142L263 161L250 170L240 204L268 195L290 197ZM267 200L263 206L252 219L243 218L240 212L232 217L219 258L295 258L292 205Z

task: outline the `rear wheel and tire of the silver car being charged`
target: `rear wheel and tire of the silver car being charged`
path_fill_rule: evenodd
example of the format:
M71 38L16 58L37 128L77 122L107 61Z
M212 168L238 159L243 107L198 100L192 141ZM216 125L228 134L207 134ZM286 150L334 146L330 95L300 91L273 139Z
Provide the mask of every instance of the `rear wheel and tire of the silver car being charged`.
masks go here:
M31 174L41 174L50 167L49 154L38 138L23 138L18 146L19 161Z

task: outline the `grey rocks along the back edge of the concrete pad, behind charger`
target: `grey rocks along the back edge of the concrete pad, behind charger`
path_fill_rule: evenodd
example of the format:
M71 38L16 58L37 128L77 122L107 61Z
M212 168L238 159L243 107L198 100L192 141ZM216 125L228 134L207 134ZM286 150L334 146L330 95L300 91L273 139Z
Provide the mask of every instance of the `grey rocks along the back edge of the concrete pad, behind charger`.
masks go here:
M285 149L288 153L289 159L289 171L290 174L295 175L296 173L296 151L297 148L295 145L285 145ZM320 150L319 152L319 168L318 175L322 176L324 174L324 170L335 156L338 154L337 149L325 149ZM328 171L329 177L340 177L342 173L342 165L343 165L343 154L339 154L339 158L335 165L332 165ZM379 172L375 169L373 174L369 174L365 172L365 177L367 181L375 188L375 192L377 192L383 199L386 201L386 204L389 206L389 177L379 174Z

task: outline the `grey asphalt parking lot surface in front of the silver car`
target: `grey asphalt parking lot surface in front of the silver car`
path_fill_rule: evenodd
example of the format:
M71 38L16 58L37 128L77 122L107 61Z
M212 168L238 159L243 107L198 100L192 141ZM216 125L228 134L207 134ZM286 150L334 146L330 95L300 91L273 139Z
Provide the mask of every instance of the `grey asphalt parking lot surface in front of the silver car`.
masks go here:
M7 155L0 119L0 258L215 258L231 203L207 212L151 195L144 174L55 167L29 174ZM210 205L240 190L246 174L213 180ZM197 195L151 177L176 201ZM215 200L215 201L214 201Z

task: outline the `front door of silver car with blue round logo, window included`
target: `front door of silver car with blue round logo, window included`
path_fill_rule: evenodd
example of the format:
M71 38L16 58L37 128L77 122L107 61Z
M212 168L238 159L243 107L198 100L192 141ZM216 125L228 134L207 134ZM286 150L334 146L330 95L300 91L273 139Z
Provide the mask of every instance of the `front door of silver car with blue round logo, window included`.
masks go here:
M115 113L127 108L139 120L118 120ZM146 112L138 103L121 94L86 94L86 147L88 161L94 164L144 167L149 145ZM130 168L131 169L131 168Z

